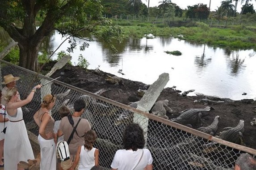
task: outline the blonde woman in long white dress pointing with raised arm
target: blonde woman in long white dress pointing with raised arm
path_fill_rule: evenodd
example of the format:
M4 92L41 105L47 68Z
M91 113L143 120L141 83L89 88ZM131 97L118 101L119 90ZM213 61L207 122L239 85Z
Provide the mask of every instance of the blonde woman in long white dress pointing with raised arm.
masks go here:
M21 107L32 101L36 89L41 87L42 85L35 86L25 100L19 100L20 94L15 87L8 89L5 93L6 113L9 118L4 141L5 170L17 170L17 164L20 161L27 162L28 159L34 159Z

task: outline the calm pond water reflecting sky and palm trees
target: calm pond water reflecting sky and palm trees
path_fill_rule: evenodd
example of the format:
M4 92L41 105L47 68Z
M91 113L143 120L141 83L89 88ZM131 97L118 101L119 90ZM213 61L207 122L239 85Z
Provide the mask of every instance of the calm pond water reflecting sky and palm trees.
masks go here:
M63 40L58 32L53 32L42 47L52 52ZM233 100L256 99L256 52L253 50L232 51L172 37L130 38L114 45L118 49L117 54L113 54L108 43L99 40L89 42L85 51L77 48L71 53L71 62L76 65L79 54L82 54L90 63L88 69L99 68L133 81L152 84L161 73L169 73L170 80L166 87L176 86L182 92L195 89L198 93ZM61 50L66 51L68 46L65 41L52 59ZM175 50L182 55L173 56L164 52ZM124 75L118 73L120 69ZM195 92L189 95L195 95Z

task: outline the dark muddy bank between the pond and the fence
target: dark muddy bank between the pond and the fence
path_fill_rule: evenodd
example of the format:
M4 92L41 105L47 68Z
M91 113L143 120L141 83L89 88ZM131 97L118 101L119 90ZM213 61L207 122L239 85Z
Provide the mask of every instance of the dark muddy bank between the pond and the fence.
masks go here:
M50 68L54 63L47 64L45 68ZM115 76L109 73L95 70L85 70L76 66L66 65L62 69L57 70L51 77L59 78L67 84L76 86L78 88L95 93L100 89L108 89L108 91L101 94L101 96L118 101L123 104L139 101L141 99L137 94L140 88L146 88L147 85L139 81L131 81L122 79L123 85L115 85L106 81L107 75ZM116 76L119 74L117 73ZM189 90L189 89L188 89ZM177 117L180 111L190 108L205 108L204 103L194 103L195 100L206 98L205 96L182 96L178 93L178 89L165 88L158 100L169 101L168 106L173 110L173 114L168 113L169 118ZM239 120L244 120L244 142L245 145L256 149L256 126L251 126L250 122L256 117L256 102L254 100L244 99L239 101L232 101L230 99L215 98L216 100L224 101L216 105L210 105L214 108L209 114L204 117L204 126L210 125L215 116L220 116L218 123L218 131L222 131L225 127L235 127Z

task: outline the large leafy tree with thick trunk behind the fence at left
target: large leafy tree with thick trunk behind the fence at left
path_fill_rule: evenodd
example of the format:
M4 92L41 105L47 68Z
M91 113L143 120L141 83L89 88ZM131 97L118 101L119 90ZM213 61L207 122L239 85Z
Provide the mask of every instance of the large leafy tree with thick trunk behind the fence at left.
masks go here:
M99 0L1 0L0 26L18 42L19 65L36 71L38 48L45 36L55 29L63 36L79 35L81 29L92 31L103 20L101 11ZM39 28L36 17L43 19ZM58 27L63 20L65 27Z

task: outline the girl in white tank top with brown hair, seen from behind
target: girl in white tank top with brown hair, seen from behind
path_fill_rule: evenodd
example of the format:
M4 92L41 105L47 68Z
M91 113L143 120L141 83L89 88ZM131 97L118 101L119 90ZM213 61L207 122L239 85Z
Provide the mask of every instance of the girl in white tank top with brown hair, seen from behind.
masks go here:
M96 138L97 134L93 130L85 133L84 146L78 147L75 161L70 170L74 170L78 162L78 170L91 170L93 166L99 166L99 150L92 146Z

